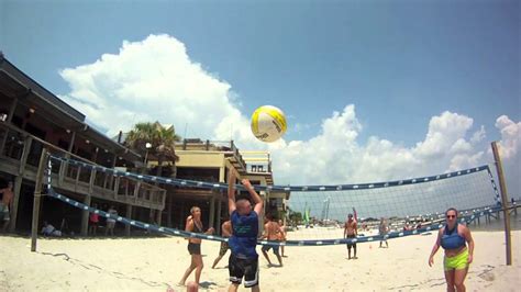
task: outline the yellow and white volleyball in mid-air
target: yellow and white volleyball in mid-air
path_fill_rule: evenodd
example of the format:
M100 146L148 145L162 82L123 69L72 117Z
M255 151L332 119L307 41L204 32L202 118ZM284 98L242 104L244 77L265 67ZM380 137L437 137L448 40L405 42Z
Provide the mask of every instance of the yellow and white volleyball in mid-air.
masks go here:
M262 142L275 142L286 133L284 112L271 105L263 105L253 112L252 132Z

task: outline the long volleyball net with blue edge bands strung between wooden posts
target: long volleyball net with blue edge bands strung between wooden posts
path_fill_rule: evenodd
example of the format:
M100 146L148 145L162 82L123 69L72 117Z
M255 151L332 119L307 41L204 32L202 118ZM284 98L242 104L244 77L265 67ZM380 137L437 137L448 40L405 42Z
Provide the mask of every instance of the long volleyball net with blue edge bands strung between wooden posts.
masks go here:
M134 173L53 155L48 158L46 181L49 196L82 211L97 213L101 217L113 218L137 228L171 236L228 242L228 238L221 236L190 233L124 216L114 216L86 205L60 194L52 187L51 169L53 164L66 162L75 167L107 172L114 177L221 192L228 190L228 183ZM241 184L237 184L236 189L245 190ZM490 167L487 165L443 175L386 182L336 186L255 186L255 190L257 192L291 192L291 199L287 202L289 210L285 214L290 228L287 240L258 240L259 245L273 246L322 246L398 238L443 227L444 212L447 207L458 209L461 211L458 220L467 224L501 210L499 191ZM354 215L357 216L361 228L359 236L356 238L343 238L343 224L350 213L356 213ZM383 217L387 220L390 232L379 235L377 226Z

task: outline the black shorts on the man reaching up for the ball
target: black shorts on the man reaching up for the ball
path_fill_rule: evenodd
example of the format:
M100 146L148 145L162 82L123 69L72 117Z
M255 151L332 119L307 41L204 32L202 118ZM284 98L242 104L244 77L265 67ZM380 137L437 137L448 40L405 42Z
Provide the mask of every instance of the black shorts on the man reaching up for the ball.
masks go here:
M241 259L230 255L228 261L230 281L240 284L244 277L244 287L251 288L258 285L258 258Z

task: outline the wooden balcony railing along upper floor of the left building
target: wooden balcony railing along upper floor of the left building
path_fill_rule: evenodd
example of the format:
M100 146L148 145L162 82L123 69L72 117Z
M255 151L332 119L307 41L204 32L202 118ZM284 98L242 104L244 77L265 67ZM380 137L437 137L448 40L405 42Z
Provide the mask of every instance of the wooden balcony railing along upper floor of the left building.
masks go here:
M0 121L0 169L11 175L34 179L42 149L51 155L95 162L66 151L18 127ZM166 190L126 177L114 177L65 161L52 165L52 184L66 191L90 194L114 202L163 210Z

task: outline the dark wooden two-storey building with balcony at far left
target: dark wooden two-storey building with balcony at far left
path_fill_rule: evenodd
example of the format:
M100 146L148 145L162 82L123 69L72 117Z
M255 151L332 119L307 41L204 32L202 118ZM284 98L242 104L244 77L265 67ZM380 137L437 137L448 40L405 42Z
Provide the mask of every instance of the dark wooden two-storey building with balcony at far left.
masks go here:
M34 181L42 149L108 168L132 169L143 157L108 138L85 122L85 115L18 69L0 53L0 188L14 184L10 231L31 228ZM55 164L53 187L60 193L119 214L147 221L160 214L166 190L129 178ZM156 211L156 212L154 212ZM54 226L67 224L87 235L88 212L44 198L41 214ZM151 220L160 223L160 215ZM125 227L130 233L130 227Z

